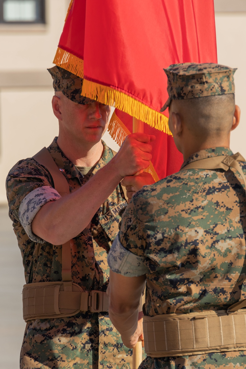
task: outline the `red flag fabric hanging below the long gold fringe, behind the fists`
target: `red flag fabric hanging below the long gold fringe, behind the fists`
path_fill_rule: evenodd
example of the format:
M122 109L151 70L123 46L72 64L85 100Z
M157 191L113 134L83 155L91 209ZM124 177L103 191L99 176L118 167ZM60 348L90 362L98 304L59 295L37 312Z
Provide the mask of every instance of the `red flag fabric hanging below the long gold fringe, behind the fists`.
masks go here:
M118 109L115 109L115 114L132 132L132 117ZM183 155L176 148L173 137L151 128L148 124L144 125L144 132L156 136L152 142L151 154L152 164L159 179L178 172L183 163Z

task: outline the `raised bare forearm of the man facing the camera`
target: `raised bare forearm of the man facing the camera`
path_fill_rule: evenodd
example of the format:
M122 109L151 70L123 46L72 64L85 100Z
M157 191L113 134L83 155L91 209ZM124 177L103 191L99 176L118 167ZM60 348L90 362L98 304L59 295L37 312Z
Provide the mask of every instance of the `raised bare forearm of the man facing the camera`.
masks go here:
M76 237L121 179L112 159L80 189L42 206L32 221L32 232L55 245Z

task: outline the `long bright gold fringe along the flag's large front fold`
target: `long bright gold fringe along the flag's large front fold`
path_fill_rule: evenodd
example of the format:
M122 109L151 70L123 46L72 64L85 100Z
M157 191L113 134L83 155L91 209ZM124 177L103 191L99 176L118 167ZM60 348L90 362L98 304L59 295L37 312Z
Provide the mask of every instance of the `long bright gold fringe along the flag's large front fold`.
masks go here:
M84 79L81 94L102 104L114 106L132 117L149 124L150 127L171 135L168 118L164 114L153 110L124 92Z

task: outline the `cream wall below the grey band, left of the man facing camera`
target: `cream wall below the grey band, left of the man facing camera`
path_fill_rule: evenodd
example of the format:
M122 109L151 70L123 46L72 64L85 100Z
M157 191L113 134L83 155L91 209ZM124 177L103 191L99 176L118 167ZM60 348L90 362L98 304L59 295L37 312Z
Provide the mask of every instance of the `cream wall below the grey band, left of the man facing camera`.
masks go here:
M12 166L48 146L58 134L52 96L52 88L1 90L0 204L6 202L5 179Z

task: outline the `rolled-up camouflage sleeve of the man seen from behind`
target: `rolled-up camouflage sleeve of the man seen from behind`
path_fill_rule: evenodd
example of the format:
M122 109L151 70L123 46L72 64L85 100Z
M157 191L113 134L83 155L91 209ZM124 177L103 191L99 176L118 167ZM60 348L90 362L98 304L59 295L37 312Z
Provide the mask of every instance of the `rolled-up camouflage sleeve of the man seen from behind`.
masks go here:
M131 201L122 215L121 228L108 254L110 269L127 277L148 272L145 265L146 235Z

